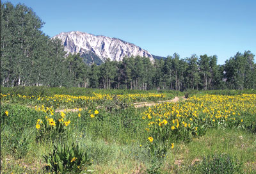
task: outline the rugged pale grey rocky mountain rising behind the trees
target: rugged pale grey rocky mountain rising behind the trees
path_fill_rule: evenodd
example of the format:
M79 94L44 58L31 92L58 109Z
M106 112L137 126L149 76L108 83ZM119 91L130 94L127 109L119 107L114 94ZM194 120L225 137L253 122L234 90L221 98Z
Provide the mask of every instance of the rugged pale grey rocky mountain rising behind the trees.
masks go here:
M147 57L151 61L154 59L148 51L118 38L95 36L80 31L63 32L53 38L62 41L64 50L68 54L79 53L87 64L100 64L107 58L112 61L122 61L125 56Z

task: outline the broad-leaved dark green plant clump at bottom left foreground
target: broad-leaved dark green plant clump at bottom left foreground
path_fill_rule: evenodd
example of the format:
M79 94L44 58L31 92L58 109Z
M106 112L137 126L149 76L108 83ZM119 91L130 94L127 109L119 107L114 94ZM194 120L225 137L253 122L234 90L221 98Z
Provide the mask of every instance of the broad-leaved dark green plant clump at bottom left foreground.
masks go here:
M68 145L54 145L52 152L44 155L47 170L54 173L81 173L88 171L92 165L87 152L76 143Z

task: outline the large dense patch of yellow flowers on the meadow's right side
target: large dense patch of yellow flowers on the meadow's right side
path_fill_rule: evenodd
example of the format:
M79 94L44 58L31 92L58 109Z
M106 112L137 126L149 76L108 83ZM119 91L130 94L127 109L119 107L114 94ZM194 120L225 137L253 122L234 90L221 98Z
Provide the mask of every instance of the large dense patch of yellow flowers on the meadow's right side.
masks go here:
M142 114L148 120L146 130L150 133L166 129L170 134L190 131L193 134L204 126L242 125L246 115L256 119L256 95L243 94L236 96L203 95L191 97L186 102L164 103L149 107Z

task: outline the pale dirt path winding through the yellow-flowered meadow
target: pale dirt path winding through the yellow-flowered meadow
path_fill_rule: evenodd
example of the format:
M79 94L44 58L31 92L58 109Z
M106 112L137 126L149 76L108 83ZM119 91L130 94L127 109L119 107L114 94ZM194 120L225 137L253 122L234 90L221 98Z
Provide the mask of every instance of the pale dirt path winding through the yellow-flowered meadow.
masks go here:
M161 103L164 103L164 102L179 102L179 101L183 101L183 100L186 100L186 98L176 96L172 100L164 100L164 101L157 101L157 102L138 102L138 103L134 103L133 106L134 107L154 106L156 104L161 104ZM79 109L56 109L55 110L56 113L60 113L60 112L63 112L63 113L78 112L78 111L79 111Z

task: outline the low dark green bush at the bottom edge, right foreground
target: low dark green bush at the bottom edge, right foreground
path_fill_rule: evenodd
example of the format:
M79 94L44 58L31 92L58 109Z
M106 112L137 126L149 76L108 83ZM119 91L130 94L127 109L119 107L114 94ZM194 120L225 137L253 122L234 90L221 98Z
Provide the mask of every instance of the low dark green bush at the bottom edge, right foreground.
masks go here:
M208 155L207 157L204 157L202 162L195 164L190 170L191 173L243 173L241 164L232 159L228 154Z

